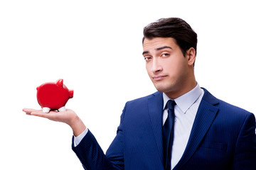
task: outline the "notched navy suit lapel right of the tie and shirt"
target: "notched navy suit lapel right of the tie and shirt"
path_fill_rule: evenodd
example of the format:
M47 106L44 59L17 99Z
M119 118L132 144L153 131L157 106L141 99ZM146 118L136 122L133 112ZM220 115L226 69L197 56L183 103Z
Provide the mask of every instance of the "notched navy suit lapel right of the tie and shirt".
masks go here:
M212 96L206 89L203 90L205 91L205 94L203 95L198 108L198 113L196 113L188 144L181 160L174 167L174 170L181 169L183 164L186 164L188 159L190 159L193 153L196 152L196 149L201 144L203 137L205 137L210 125L213 123L213 120L218 113L218 108L215 107L215 105L218 104L218 99Z

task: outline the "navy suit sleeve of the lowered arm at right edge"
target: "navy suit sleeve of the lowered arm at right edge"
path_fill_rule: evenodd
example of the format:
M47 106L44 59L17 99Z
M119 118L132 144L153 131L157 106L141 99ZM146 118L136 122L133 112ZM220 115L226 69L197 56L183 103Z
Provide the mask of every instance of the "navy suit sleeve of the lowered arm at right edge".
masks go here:
M255 116L250 113L240 130L235 147L233 169L255 170L256 167L256 135Z

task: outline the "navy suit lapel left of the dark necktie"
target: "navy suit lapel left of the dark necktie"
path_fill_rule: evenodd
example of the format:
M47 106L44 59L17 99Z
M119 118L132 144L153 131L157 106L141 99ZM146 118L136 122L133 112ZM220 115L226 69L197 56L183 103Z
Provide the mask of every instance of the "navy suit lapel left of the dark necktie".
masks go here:
M162 140L162 118L163 118L163 94L156 92L149 98L149 115L152 123L156 145L159 150L159 157L164 161L163 140Z

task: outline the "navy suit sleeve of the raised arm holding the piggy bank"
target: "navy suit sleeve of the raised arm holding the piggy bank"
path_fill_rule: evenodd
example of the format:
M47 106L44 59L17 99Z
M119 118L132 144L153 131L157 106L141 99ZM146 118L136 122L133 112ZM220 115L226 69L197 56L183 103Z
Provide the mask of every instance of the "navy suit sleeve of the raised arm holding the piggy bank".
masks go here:
M125 108L124 108L125 111ZM72 144L72 149L80 159L82 166L85 170L122 170L124 169L124 152L123 152L123 130L122 118L124 111L121 115L121 123L117 128L117 135L114 138L107 154L105 155L100 145L95 139L92 132L88 130L85 137L82 139L78 146ZM74 141L74 140L73 140Z

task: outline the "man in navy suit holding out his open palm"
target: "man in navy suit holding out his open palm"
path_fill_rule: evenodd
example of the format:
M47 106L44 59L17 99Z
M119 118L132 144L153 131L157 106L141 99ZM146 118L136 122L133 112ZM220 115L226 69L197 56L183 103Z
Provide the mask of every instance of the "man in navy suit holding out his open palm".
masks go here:
M144 28L143 56L157 92L126 103L106 155L73 111L23 111L70 125L85 169L256 169L255 116L201 89L196 45L181 18Z

